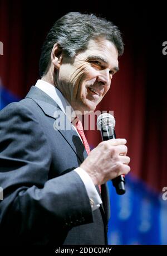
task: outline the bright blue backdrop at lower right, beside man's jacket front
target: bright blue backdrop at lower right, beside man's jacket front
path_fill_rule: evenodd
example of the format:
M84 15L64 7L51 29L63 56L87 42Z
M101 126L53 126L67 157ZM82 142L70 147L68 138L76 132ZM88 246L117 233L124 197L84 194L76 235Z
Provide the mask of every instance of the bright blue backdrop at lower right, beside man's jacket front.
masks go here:
M109 244L167 244L167 201L141 181L126 176L126 193L119 196L111 182Z

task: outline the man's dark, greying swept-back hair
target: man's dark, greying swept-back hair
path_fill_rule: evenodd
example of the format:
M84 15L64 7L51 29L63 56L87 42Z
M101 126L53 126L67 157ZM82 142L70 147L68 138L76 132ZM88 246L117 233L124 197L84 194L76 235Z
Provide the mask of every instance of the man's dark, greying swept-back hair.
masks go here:
M112 22L93 14L69 12L57 20L48 32L42 46L40 58L40 75L47 71L51 60L53 45L57 42L60 48L73 57L81 50L85 50L90 39L104 37L113 42L119 55L124 52L124 43L119 29Z

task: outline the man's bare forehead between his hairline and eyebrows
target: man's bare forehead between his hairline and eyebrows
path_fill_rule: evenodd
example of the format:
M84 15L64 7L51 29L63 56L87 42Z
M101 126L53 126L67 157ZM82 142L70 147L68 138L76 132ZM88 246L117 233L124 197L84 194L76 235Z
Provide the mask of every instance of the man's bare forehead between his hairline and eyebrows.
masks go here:
M107 62L114 61L115 65L118 64L118 51L116 46L109 40L106 39L91 39L89 44L87 45L87 49L85 51L87 57L92 56L102 56L106 59Z

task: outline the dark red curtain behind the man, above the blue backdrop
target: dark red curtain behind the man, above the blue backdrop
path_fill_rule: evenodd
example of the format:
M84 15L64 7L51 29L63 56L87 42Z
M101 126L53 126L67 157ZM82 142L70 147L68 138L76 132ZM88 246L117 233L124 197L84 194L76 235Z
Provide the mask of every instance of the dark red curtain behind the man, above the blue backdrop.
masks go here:
M120 71L97 110L114 110L117 138L126 138L131 158L131 175L151 189L167 186L166 162L166 62L162 44L166 41L166 20L160 6L150 8L113 3L112 10L92 1L87 7L0 0L0 77L11 92L24 97L38 77L42 42L53 22L69 11L101 13L124 36L125 53ZM100 2L99 2L100 3ZM65 9L66 8L66 9ZM72 9L73 8L73 9ZM155 15L159 16L156 20ZM90 145L100 141L99 131L86 131Z

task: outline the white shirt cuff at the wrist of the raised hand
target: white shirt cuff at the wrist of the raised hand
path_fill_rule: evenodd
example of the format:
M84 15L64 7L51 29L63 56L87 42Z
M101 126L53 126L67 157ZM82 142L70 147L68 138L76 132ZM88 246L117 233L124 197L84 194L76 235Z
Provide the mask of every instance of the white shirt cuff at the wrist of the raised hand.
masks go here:
M96 190L94 182L92 182L92 179L89 176L89 174L87 172L85 172L85 170L82 169L81 167L78 167L74 170L75 170L75 172L77 172L77 174L80 176L80 178L84 182L84 185L85 185L85 188L87 191L87 195L89 196L92 211L95 211L97 208L100 207L100 204L102 203L102 201L99 196L99 193Z

